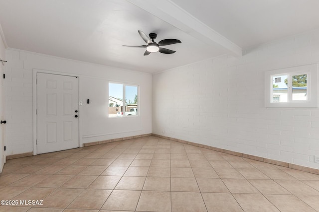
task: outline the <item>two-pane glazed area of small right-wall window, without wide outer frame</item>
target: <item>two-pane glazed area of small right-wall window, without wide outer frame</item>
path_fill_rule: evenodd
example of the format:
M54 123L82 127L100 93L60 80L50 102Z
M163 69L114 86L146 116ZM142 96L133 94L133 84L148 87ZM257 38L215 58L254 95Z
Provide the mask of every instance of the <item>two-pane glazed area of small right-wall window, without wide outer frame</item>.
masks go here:
M307 75L276 75L273 78L272 102L305 101L307 96Z

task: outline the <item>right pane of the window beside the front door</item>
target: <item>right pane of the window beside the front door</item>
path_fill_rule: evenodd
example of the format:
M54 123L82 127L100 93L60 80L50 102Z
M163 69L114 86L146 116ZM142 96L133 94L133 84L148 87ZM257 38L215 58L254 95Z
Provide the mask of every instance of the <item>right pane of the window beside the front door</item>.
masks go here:
M138 86L125 86L125 115L138 115Z

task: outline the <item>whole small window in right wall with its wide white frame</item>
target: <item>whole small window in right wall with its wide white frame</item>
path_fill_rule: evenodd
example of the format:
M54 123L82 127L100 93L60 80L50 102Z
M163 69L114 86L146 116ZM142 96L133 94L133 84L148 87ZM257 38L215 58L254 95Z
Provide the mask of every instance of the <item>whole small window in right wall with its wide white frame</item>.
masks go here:
M266 71L266 107L318 107L318 64Z

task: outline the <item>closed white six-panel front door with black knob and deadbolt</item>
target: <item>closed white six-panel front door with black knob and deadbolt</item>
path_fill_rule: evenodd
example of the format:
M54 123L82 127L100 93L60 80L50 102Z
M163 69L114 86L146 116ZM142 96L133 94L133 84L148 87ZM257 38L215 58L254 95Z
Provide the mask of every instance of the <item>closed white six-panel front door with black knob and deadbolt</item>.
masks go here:
M37 73L37 153L79 147L79 78Z

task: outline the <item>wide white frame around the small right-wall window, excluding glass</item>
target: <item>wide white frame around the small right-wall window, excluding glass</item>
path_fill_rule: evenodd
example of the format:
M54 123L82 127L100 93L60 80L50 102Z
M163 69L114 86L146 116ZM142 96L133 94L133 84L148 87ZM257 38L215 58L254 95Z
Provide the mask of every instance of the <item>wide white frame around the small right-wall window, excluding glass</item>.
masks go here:
M292 100L292 76L307 74L307 100ZM288 75L288 101L273 102L273 77ZM265 105L267 108L317 108L318 64L291 67L265 72Z

